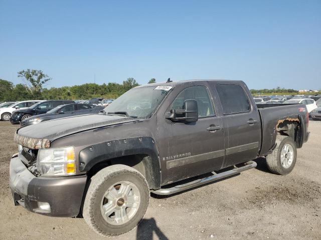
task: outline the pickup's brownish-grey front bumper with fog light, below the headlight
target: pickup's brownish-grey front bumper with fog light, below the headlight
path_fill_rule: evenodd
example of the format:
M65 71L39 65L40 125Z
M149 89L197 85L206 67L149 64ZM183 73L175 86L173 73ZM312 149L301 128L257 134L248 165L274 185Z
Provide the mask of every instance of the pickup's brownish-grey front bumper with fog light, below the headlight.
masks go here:
M10 161L10 187L15 205L50 216L77 216L87 176L42 177L32 174L22 155Z

